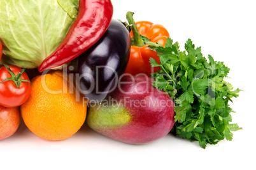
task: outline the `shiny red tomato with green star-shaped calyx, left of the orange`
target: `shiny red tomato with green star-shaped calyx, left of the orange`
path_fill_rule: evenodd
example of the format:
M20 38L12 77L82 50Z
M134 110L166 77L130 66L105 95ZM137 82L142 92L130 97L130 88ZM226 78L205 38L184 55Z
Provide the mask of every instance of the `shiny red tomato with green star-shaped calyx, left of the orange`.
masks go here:
M14 65L6 65L6 67L0 68L0 105L17 107L29 98L31 83L24 69Z

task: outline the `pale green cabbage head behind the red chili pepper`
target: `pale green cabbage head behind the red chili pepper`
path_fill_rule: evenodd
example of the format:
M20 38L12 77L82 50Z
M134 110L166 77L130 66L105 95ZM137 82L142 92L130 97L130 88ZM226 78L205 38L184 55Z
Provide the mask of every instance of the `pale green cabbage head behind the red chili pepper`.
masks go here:
M62 42L79 0L0 0L1 62L37 68Z

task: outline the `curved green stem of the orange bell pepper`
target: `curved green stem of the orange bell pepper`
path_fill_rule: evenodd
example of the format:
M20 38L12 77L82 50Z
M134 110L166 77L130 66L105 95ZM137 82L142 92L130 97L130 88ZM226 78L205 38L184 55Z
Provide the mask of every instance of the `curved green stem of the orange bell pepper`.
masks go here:
M131 25L131 29L132 29L132 33L133 33L133 37L134 37L132 45L133 46L139 46L139 47L144 46L145 43L141 39L138 27L136 26L136 23L135 23L135 21L132 17L133 15L134 15L134 13L132 13L130 11L126 13L126 18L127 18L128 23Z

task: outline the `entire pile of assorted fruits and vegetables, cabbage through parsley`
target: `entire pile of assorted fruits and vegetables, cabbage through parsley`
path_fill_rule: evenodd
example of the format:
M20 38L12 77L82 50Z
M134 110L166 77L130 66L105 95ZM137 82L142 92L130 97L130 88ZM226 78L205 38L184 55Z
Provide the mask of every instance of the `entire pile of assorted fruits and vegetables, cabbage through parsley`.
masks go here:
M229 68L157 23L113 19L110 0L0 1L0 140L23 119L45 140L83 124L130 144L232 140Z

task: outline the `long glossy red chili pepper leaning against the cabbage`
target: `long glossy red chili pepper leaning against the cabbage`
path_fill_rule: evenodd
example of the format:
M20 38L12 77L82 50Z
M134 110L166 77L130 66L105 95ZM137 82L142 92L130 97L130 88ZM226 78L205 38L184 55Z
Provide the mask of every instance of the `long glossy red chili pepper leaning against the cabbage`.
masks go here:
M108 29L113 16L110 0L80 0L78 15L68 34L39 66L39 72L68 63L93 46Z

